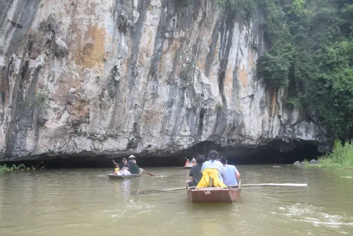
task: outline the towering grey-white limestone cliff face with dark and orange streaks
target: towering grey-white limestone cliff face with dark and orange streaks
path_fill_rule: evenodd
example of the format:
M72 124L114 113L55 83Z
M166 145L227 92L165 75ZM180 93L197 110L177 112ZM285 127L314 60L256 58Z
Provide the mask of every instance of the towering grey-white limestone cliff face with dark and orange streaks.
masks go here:
M205 141L325 147L315 119L255 77L260 10L247 22L180 2L3 1L23 28L0 19L0 161L171 156Z

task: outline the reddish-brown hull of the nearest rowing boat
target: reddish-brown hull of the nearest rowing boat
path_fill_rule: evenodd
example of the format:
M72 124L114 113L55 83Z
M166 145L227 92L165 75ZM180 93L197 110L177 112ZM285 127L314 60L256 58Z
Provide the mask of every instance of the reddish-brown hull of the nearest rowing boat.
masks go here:
M193 203L233 203L238 200L242 190L238 188L200 188L187 190L191 202Z

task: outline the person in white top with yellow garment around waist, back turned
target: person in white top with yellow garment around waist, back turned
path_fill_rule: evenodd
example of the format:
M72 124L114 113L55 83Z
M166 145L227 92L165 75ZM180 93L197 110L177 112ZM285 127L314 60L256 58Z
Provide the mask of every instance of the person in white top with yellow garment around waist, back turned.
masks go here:
M210 178L212 178L212 186L214 187L222 187L226 188L223 184L222 174L225 174L225 169L222 163L217 161L218 152L212 150L208 154L210 160L205 161L202 165L201 172L202 172L202 179L197 185L196 189L202 187L209 187L210 186Z

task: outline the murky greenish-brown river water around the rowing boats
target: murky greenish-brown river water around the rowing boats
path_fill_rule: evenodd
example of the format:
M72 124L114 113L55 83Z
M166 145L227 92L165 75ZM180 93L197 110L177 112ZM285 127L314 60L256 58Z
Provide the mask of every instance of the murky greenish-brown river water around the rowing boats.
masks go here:
M145 168L158 177L111 181L110 169L47 169L0 175L0 235L353 235L353 170L239 165L234 204L193 204L183 167Z

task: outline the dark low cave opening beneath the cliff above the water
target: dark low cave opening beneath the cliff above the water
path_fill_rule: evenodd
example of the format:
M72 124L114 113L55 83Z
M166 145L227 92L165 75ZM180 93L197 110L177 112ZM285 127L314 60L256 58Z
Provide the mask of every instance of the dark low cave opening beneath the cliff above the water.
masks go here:
M181 151L174 156L139 156L137 163L140 167L154 166L184 166L186 159L191 159L197 154L208 156L208 152L212 149L218 151L219 156L225 156L229 164L292 164L295 161L303 161L305 159L317 159L321 153L318 152L317 145L312 142L296 141L293 143L285 143L283 141L272 141L266 145L256 148L238 146L238 147L220 147L213 142L201 142L189 149ZM126 156L128 157L128 156ZM52 157L51 157L52 158ZM45 166L45 168L103 168L114 165L112 160L119 162L124 158L111 156L62 156L53 159L46 159L43 163L41 160L26 160L16 162L3 162L0 164L20 164L26 166ZM45 159L45 157L43 157Z

